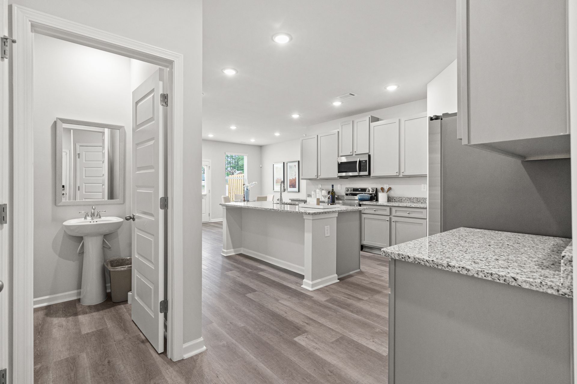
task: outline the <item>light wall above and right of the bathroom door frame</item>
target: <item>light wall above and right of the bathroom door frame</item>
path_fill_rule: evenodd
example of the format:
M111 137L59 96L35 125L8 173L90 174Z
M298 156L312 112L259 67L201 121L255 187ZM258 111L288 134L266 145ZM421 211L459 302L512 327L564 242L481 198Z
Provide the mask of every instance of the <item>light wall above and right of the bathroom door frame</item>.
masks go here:
M202 239L200 178L202 81L203 81L203 2L175 0L159 6L156 0L9 0L9 4L39 10L66 20L98 28L154 47L184 55L184 137L183 155L185 198L182 210L185 252L184 337L183 343L201 337Z

